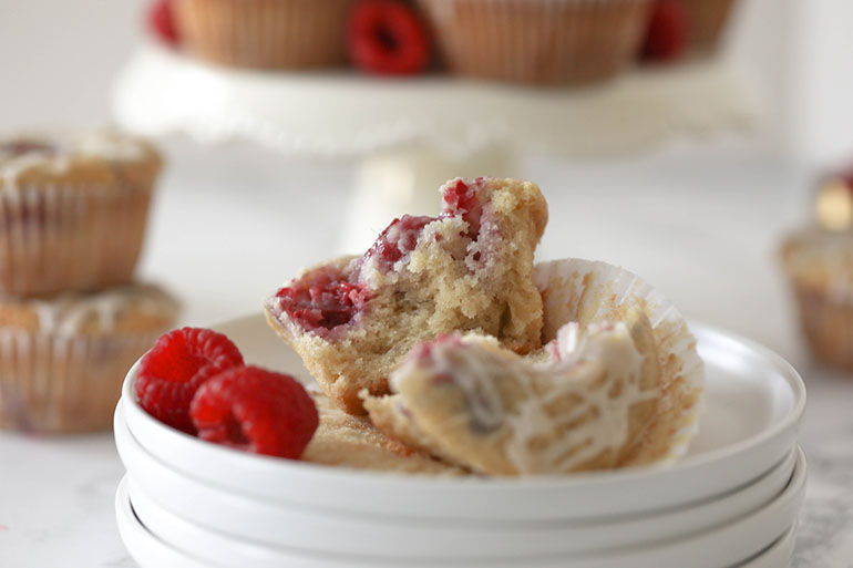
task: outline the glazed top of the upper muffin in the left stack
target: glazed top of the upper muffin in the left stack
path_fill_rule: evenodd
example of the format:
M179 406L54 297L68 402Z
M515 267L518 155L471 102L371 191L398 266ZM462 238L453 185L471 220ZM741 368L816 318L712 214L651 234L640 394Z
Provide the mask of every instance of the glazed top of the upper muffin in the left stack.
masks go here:
M152 144L115 131L0 138L0 192L150 183L161 165Z

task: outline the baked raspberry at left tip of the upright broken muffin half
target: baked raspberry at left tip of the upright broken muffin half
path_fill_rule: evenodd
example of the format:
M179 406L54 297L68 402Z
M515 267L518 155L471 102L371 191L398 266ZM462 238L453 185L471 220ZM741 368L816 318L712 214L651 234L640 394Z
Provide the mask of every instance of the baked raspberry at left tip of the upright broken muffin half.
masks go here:
M350 283L342 275L327 269L309 272L276 292L281 311L302 328L318 331L348 323L368 300L362 285Z

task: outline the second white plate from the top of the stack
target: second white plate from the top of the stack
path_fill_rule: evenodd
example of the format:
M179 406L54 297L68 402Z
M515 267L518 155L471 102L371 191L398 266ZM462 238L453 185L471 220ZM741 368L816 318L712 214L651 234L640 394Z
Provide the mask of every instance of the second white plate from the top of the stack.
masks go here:
M302 550L418 558L524 557L649 545L711 529L753 513L791 478L795 452L756 483L693 507L606 521L502 525L445 519L399 519L281 506L213 486L169 469L133 438L115 415L115 440L127 467L143 520L164 509L222 535ZM143 510L144 508L144 510ZM289 527L281 530L281 527ZM164 530L164 533L166 533ZM168 530L171 533L171 530ZM197 541L201 540L196 539ZM213 545L212 545L213 546Z

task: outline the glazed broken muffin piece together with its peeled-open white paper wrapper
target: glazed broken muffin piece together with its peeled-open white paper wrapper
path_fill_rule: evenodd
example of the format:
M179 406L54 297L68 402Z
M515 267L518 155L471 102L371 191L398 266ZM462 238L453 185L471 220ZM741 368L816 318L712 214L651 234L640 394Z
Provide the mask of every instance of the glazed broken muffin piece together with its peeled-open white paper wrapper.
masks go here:
M583 260L541 265L545 338L522 358L490 338L414 348L391 395L362 393L373 423L487 475L659 463L696 432L702 365L686 323L634 275Z

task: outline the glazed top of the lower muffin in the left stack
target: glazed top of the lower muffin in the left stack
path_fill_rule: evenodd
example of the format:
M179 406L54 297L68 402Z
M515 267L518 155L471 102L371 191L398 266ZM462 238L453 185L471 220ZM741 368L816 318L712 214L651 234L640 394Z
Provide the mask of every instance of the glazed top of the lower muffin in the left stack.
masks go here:
M153 285L25 300L0 299L0 327L54 337L160 332L174 324L178 303Z

